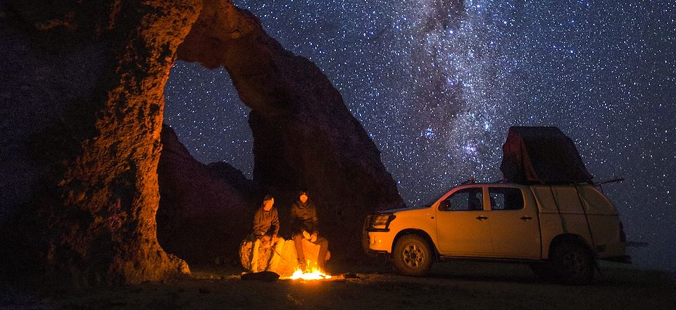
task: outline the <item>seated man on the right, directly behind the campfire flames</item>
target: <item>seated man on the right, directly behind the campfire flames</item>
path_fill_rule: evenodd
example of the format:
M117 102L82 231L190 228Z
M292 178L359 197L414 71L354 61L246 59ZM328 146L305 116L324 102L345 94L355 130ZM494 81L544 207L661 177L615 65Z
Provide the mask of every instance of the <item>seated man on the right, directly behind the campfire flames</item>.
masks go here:
M306 260L302 243L304 238L320 246L317 266L324 271L329 242L324 237L319 236L317 208L315 207L315 204L308 199L308 194L306 192L300 192L299 199L292 204L291 221L294 243L296 244L296 254L298 255L298 263L301 270L306 270Z

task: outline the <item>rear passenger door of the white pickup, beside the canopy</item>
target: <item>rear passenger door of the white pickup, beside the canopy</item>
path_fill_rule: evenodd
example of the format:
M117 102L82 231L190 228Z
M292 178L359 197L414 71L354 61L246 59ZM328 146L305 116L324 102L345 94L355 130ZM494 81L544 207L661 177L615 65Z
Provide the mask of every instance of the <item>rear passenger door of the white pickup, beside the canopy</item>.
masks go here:
M526 193L529 194L529 193ZM496 257L539 259L540 230L536 206L525 204L518 187L488 187L489 220ZM530 202L532 199L526 199Z

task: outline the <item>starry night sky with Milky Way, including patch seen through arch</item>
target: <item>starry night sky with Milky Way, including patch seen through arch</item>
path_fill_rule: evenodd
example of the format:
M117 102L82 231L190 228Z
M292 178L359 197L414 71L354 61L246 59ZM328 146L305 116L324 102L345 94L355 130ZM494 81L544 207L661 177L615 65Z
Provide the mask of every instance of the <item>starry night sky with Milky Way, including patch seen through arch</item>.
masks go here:
M676 1L235 0L317 64L408 204L502 178L512 125L572 138L637 266L676 271ZM620 3L617 3L620 2ZM251 177L249 109L223 68L177 62L165 122L201 162Z

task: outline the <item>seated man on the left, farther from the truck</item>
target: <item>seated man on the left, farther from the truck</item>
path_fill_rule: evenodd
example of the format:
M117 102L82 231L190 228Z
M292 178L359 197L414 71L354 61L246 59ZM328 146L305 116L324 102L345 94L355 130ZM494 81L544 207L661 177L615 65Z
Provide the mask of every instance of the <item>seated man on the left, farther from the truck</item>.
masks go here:
M277 237L280 233L280 217L277 208L273 206L275 198L265 195L263 204L256 209L253 214L253 253L251 253L251 271L261 271L258 266L258 248L263 244L264 247L270 247L273 244L273 258L270 259L266 271L275 271L277 264L280 263L280 253L284 247L284 238Z

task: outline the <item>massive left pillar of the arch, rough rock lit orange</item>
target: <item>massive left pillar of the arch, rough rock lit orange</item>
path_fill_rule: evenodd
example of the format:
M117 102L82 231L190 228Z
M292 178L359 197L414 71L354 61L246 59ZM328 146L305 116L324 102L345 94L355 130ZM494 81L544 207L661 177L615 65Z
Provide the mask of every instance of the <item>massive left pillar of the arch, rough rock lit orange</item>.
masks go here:
M4 270L71 287L188 273L156 238L156 169L163 87L201 1L3 2L2 165L27 180L4 184Z

